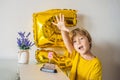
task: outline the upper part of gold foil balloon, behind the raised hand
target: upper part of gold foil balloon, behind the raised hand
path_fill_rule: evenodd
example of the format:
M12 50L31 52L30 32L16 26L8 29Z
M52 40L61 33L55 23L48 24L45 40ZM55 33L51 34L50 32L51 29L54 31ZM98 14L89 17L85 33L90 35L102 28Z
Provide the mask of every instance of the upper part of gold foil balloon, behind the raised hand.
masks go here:
M55 15L60 13L64 14L67 27L76 25L76 10L52 9L33 14L33 32L37 47L64 47L60 31L52 24L52 22L56 21Z

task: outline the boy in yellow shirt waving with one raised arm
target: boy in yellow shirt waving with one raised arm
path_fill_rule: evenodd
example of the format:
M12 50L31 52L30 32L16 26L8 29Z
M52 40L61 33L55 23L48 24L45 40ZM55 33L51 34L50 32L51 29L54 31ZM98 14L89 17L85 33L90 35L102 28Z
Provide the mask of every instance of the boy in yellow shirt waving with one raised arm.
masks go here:
M91 53L92 39L88 31L77 28L70 32L62 14L56 16L56 20L56 23L52 23L61 31L68 52L75 55L70 80L102 80L102 66L99 59Z

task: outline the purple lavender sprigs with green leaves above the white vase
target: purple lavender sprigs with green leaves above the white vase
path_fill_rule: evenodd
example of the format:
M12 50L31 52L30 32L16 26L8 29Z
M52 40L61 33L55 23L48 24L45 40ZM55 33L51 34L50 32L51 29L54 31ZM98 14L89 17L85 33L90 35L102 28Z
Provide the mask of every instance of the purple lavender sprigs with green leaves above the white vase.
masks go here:
M29 32L25 36L25 32L18 32L19 38L17 38L17 44L20 49L22 50L30 49L34 45L34 43L30 41L28 38L30 34L31 33Z

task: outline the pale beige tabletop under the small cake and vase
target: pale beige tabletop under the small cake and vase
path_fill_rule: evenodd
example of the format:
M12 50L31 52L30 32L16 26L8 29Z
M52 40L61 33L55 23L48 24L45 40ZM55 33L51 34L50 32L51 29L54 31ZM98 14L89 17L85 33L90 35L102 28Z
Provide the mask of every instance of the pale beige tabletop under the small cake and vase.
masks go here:
M57 73L40 71L42 65L21 64L19 65L20 80L69 80L57 66Z

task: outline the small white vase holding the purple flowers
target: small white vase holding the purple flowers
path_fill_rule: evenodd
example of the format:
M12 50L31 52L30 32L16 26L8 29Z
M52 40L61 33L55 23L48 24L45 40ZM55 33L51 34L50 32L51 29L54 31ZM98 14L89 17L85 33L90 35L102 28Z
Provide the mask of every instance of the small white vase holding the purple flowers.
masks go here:
M18 52L18 63L21 64L29 63L29 50L20 50Z

